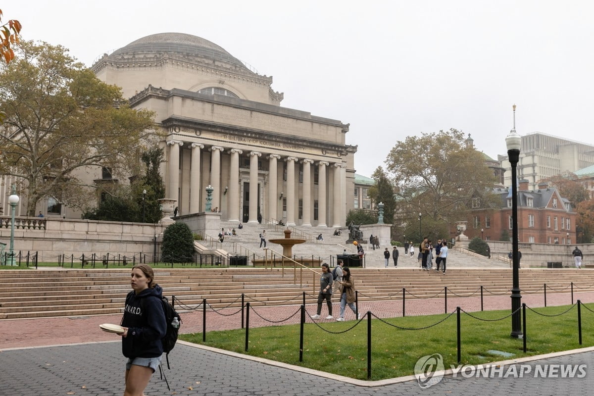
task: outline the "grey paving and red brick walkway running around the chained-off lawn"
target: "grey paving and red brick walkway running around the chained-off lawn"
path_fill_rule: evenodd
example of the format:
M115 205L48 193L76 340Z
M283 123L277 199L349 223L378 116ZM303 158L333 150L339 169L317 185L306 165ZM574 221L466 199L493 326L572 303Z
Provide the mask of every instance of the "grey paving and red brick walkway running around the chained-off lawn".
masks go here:
M486 294L486 293L485 293ZM411 297L412 298L412 297ZM574 293L574 301L594 302L594 293ZM547 293L547 305L569 305L569 293ZM542 294L525 294L522 301L531 308L544 306ZM479 311L480 297L451 297L447 311L460 306L465 311ZM298 305L256 307L258 315L251 315L250 327L271 325L268 321L288 318ZM485 296L484 308L509 309L510 297ZM337 304L334 304L337 311ZM315 313L315 305L307 306ZM402 316L402 300L362 302L362 312L372 311L380 317ZM443 313L441 298L414 300L407 297L406 315ZM237 309L207 311L207 331L241 327ZM326 315L326 306L323 307ZM352 315L352 313L349 313ZM347 314L348 315L348 314ZM0 396L55 395L118 395L124 388L124 358L116 335L102 332L98 325L118 323L120 315L100 315L48 319L4 319L0 321ZM264 319L265 318L265 319ZM346 316L347 319L352 319ZM183 332L202 331L202 312L183 315ZM295 315L285 323L297 323ZM308 319L309 321L309 319ZM103 341L103 342L97 342ZM73 344L87 343L87 344ZM68 344L56 346L56 344ZM594 388L594 352L549 357L540 364L585 364L584 378L452 378L446 376L439 384L421 389L416 381L380 387L361 387L336 379L267 365L239 357L227 356L178 344L170 356L172 370L166 370L172 391L155 373L147 395L577 395ZM532 369L532 373L535 370ZM191 389L190 389L191 388Z

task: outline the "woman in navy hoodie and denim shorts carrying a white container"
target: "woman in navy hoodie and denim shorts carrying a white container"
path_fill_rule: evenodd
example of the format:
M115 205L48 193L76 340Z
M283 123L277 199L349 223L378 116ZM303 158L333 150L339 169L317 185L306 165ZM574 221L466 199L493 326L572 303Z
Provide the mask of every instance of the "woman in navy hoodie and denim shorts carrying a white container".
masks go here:
M153 268L138 264L132 268L132 292L126 296L122 318L122 353L126 363L124 396L142 396L151 375L159 367L166 323L161 303L162 289L154 281Z

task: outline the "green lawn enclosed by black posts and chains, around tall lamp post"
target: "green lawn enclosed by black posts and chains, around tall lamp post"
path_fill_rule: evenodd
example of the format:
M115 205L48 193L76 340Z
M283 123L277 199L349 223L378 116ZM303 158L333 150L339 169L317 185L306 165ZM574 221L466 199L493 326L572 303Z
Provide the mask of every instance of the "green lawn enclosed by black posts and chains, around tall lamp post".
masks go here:
M594 303L586 306L594 311ZM567 311L568 308L570 306L557 306L535 308L535 311L555 315ZM513 353L514 357L522 357L594 346L594 312L590 312L583 305L582 346L578 340L577 306L560 316L548 317L538 313L526 309L525 354L523 341L510 337L511 318L482 321L461 312L462 364L477 365L508 359L490 354L488 350L504 351ZM509 311L473 312L471 315L493 320L504 318L509 315ZM385 320L399 327L419 329L436 324L446 316L406 316ZM356 321L328 322L320 325L327 331L340 332L346 331L355 323ZM372 319L371 328L372 380L412 375L416 361L433 353L443 356L445 368L457 365L455 313L444 322L424 330L401 330L378 319ZM179 338L351 378L367 379L366 319L342 334L330 334L315 324L306 324L304 362L299 362L299 325L249 329L248 352L245 352L245 330L241 329L209 331L206 333L206 343L202 342L201 333L184 334Z

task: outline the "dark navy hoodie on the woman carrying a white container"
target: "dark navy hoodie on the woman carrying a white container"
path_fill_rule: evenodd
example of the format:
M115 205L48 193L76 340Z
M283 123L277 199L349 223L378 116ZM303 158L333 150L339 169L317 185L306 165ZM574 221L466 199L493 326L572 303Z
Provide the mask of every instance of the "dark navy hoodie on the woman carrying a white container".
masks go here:
M162 289L157 284L136 294L126 296L122 326L128 328L127 337L122 337L122 353L125 357L159 357L163 354L161 339L165 337L167 324L161 303Z

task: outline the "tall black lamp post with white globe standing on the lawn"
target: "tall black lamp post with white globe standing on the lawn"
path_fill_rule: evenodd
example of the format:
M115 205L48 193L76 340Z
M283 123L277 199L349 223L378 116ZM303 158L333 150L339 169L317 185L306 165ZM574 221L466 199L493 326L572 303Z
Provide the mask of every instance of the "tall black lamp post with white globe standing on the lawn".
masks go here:
M522 322L520 312L520 258L518 256L518 204L517 204L517 164L520 160L520 144L522 138L516 133L516 105L514 104L514 129L511 129L510 134L505 138L505 145L507 145L507 156L511 164L511 252L512 252L512 268L513 268L513 284L511 287L511 337L522 338Z

